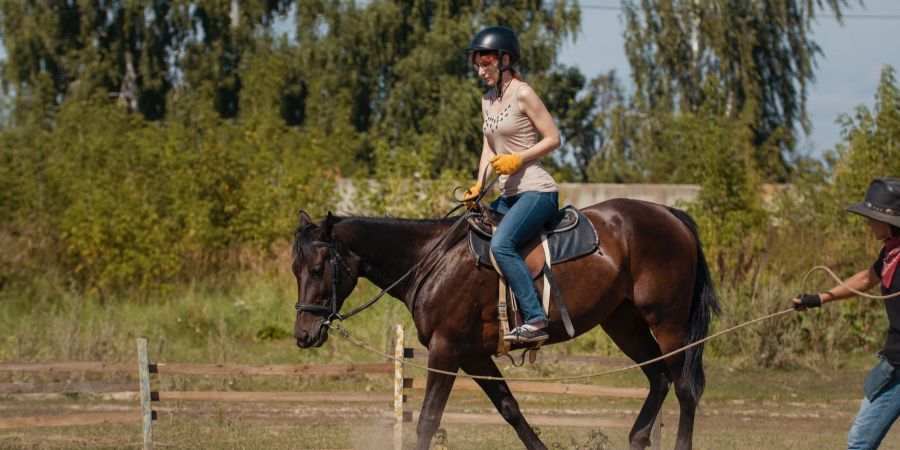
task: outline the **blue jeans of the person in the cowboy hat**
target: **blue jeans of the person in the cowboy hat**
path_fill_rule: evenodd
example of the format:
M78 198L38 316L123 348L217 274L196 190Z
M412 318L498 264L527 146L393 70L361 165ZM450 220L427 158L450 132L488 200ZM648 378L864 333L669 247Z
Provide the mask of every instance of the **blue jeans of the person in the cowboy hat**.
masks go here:
M863 397L859 414L847 436L848 450L878 448L884 435L900 415L900 377L895 375L889 386L875 401L870 402Z

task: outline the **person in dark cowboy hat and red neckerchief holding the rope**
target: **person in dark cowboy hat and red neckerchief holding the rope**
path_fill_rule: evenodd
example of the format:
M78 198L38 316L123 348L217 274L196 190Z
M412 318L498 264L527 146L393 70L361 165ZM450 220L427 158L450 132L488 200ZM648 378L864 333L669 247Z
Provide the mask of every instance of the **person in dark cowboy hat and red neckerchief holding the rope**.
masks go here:
M818 308L822 303L853 296L849 288L867 291L881 285L882 295L900 292L900 179L873 180L863 201L847 211L869 219L869 228L884 247L875 264L844 280L827 292L803 294L793 300L794 309ZM846 285L846 286L845 286ZM900 298L884 302L888 315L888 335L878 353L880 362L863 384L862 406L847 436L848 449L878 448L884 435L900 416Z

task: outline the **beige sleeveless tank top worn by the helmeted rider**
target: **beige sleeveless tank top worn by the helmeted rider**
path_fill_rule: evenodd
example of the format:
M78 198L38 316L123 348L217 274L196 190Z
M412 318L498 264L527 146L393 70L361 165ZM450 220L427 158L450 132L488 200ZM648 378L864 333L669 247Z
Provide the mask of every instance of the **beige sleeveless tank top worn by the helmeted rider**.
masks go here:
M487 138L488 146L498 155L519 153L537 144L538 131L531 119L519 109L517 95L519 86L513 92L503 96L499 111L491 114L488 107L497 101L497 90L492 89L481 99L481 114L484 117L482 130ZM494 105L496 106L496 105ZM556 192L559 190L550 173L544 169L540 160L525 161L518 172L512 175L500 175L500 193L504 197L512 197L526 191Z

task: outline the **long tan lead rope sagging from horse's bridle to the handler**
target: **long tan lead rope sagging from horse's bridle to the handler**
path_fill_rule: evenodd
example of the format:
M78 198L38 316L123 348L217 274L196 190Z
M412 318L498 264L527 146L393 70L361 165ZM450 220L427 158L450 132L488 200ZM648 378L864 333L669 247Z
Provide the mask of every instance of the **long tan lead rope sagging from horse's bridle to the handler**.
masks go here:
M825 267L825 266L815 266L815 267L813 267L812 269L810 269L809 272L806 273L806 276L803 277L803 283L801 283L801 285L800 285L800 287L801 287L800 290L801 290L801 291L804 290L804 287L806 286L806 281L809 279L810 275L812 275L813 272L816 272L816 271L818 271L818 270L825 271L828 275L831 276L831 278L834 278L835 281L838 282L838 284L840 284L841 286L844 286L844 287L847 288L850 292L853 292L854 294L859 295L860 297L864 297L864 298L868 298L868 299L873 299L873 300L888 300L888 299L900 297L900 292L897 292L897 293L894 293L894 294L891 294L891 295L872 295L872 294L866 294L866 293L864 293L864 292L857 291L856 289L853 289L853 288L851 288L850 286L847 286L846 284L844 284L844 282L841 281L841 279L838 278L838 276L835 275L835 273L832 272L831 269L829 269L828 267ZM829 303L831 303L831 302L829 302ZM639 363L639 364L632 364L632 365L630 365L630 366L625 366L625 367L621 367L621 368L618 368L618 369L606 370L606 371L603 371L603 372L588 373L588 374L583 374L583 375L559 376L559 377L494 377L494 376L487 376L487 375L469 375L469 374L465 374L465 373L462 373L462 374L461 374L461 373L450 372L450 371L446 371L446 370L432 369L432 368L430 368L430 367L428 367L428 366L425 366L425 365L422 365L422 364L417 364L417 363L414 363L414 362L411 362L411 361L406 361L406 360L404 360L403 358L396 358L396 357L394 357L393 355L389 355L389 354L384 353L384 352L382 352L382 351L376 350L376 349L370 347L369 345L367 345L366 343L360 341L359 339L356 339L356 338L354 338L353 336L350 336L350 334L347 333L347 331L344 329L344 327L343 327L341 324L338 324L337 326L335 326L335 325L329 325L329 327L330 327L332 330L336 331L336 332L337 332L338 334L340 334L341 336L343 336L345 339L347 339L348 341L350 341L352 344L354 344L354 345L356 345L356 346L358 346L358 347L360 347L360 348L362 348L362 349L368 350L368 351L370 351L370 352L372 352L372 353L375 353L375 354L377 354L377 355L379 355L379 356L381 356L381 357L387 358L387 359L389 359L389 360L392 360L392 361L395 361L395 362L399 362L401 365L408 365L408 366L410 366L410 367L415 367L415 368L422 369L422 370L426 370L426 371L432 372L432 373L438 373L438 374L441 374L441 375L450 375L450 376L461 377L461 378L471 378L471 379L473 379L473 380L492 380L492 381L565 381L565 380L582 380L582 379L585 379L585 378L601 377L601 376L605 376L605 375L611 375L611 374L614 374L614 373L625 372L625 371L628 371L628 370L632 370L632 369L637 369L637 368L640 368L640 367L644 367L644 366L647 366L647 365L650 365L650 364L653 364L653 363L662 361L662 360L664 360L664 359L666 359L666 358L675 356L675 355L677 355L677 354L679 354L679 353L683 353L683 352L687 351L688 349L691 349L691 348L696 347L696 346L698 346L698 345L703 345L704 343L706 343L706 341L715 339L715 338L717 338L717 337L719 337L719 336L722 336L722 335L724 335L724 334L728 334L728 333L731 333L731 332L736 331L736 330L738 330L738 329L744 328L744 327L746 327L746 326L753 325L753 324L755 324L755 323L762 322L762 321L765 321L765 320L769 320L769 319L772 319L772 318L775 318L775 317L778 317L778 316L782 316L782 315L785 315L785 314L787 314L787 313L794 312L794 311L795 311L794 308L788 308L788 309L785 309L784 311L778 311L778 312L776 312L776 313L772 313L772 314L769 314L769 315L767 315L767 316L758 317L758 318L756 318L756 319L753 319L753 320L744 322L744 323L742 323L742 324L735 325L735 326L733 326L733 327L731 327L731 328L722 330L722 331L720 331L720 332L718 332L718 333L716 333L716 334L713 334L713 335L711 335L711 336L707 336L706 338L703 338L703 339L701 339L701 340L699 340L699 341L697 341L697 342L694 342L694 343L685 345L684 347L681 347L681 348L679 348L679 349L677 349L677 350L673 350L673 351L671 351L671 352L669 352L669 353L666 353L665 355L662 355L662 356L660 356L660 357L653 358L653 359L651 359L651 360L649 360L649 361L644 361L644 362Z

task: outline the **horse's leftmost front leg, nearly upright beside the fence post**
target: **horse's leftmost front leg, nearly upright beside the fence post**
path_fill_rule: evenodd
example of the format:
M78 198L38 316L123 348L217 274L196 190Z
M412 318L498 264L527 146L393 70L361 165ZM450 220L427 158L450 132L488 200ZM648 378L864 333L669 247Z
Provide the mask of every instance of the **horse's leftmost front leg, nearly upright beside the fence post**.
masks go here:
M451 347L433 337L428 350L428 367L456 373L459 370L459 356L451 351ZM428 381L425 384L425 400L422 402L422 412L419 414L419 424L416 426L416 448L428 450L431 439L441 424L441 416L444 415L444 407L453 389L455 376L428 372Z

